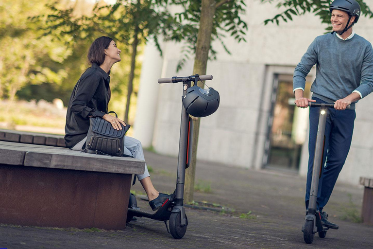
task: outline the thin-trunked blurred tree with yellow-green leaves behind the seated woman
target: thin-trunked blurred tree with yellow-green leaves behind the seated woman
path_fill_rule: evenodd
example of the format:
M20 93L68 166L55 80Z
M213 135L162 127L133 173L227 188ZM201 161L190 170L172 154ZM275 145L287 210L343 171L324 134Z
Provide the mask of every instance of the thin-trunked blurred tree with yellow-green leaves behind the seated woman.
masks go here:
M128 122L129 106L135 78L138 46L153 38L159 51L158 36L172 29L174 18L166 11L162 0L118 0L115 4L98 2L92 15L74 16L74 8L58 9L49 6L53 14L47 16L46 35L71 36L74 39L92 39L98 34L108 35L129 46L131 66L128 76L127 103L124 121ZM43 17L37 17L38 19ZM44 17L45 18L45 17Z

